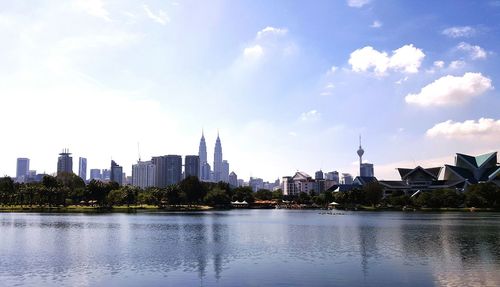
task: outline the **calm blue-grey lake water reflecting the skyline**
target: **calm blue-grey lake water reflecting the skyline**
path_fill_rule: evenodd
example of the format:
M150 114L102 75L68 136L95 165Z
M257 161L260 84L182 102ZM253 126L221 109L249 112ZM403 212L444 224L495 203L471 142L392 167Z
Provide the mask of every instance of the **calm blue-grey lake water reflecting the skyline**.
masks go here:
M0 213L0 286L500 286L500 214Z

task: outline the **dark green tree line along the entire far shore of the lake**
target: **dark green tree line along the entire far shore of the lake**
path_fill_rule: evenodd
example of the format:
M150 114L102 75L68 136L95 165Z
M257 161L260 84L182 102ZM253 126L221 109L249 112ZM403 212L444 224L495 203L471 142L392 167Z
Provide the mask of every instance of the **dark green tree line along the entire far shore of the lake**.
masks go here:
M0 178L0 205L21 207L66 207L91 205L98 208L113 206L152 205L158 208L179 205L210 205L225 207L231 201L255 200L285 201L292 204L327 207L335 201L345 208L368 205L373 207L415 208L500 208L500 188L493 183L471 185L465 192L454 189L423 191L411 197L402 191L383 196L383 188L377 183L347 192L300 193L283 195L281 190L266 189L253 192L250 187L233 188L224 182L201 182L188 177L166 188L119 186L116 182L91 180L88 184L73 173L44 176L37 183L16 183L10 177Z

